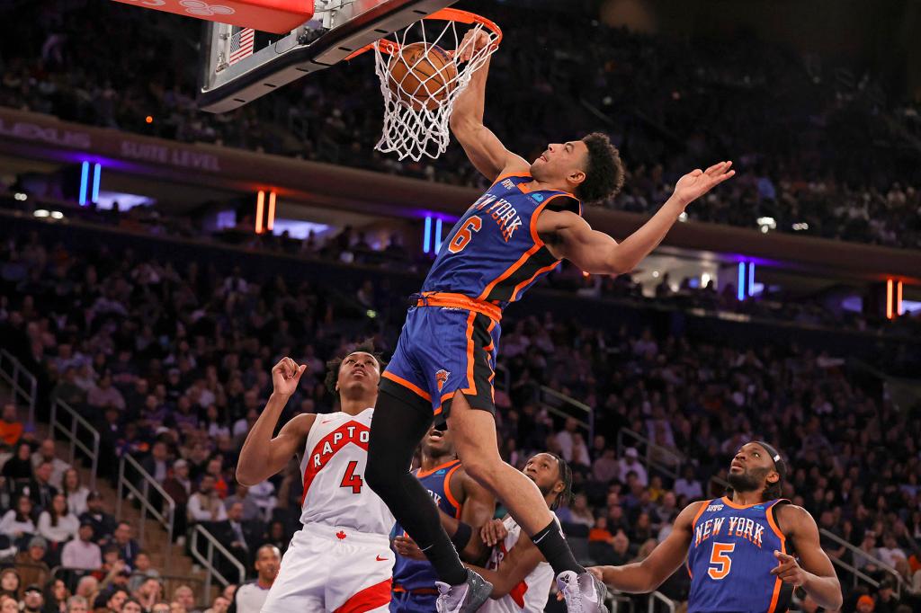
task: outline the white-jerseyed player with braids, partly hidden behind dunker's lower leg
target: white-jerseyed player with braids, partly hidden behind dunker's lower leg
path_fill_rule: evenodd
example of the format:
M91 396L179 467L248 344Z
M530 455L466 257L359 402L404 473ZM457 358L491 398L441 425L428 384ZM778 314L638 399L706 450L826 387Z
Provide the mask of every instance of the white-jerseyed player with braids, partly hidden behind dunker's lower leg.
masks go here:
M554 511L572 495L573 474L562 457L551 453L537 454L521 471L543 494L547 507ZM443 518L446 528L451 527ZM493 584L490 599L480 607L481 613L522 613L542 611L554 583L554 570L527 535L521 537L521 527L510 516L489 522L481 530L481 543L488 546L489 558L485 568L468 564L486 581ZM394 542L397 553L423 558L422 552L409 538ZM431 610L431 609L429 609Z

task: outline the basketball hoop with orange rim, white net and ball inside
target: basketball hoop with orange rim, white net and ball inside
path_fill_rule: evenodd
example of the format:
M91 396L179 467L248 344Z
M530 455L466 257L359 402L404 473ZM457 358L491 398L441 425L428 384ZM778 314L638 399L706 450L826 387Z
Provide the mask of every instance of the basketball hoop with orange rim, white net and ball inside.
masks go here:
M445 14L452 18L442 21L439 15ZM437 158L448 148L454 103L502 38L495 24L470 17L476 16L446 9L374 44L375 71L384 97L378 151L419 161L423 156ZM464 38L477 31L484 32L488 42L483 44L480 37L474 45L476 36Z

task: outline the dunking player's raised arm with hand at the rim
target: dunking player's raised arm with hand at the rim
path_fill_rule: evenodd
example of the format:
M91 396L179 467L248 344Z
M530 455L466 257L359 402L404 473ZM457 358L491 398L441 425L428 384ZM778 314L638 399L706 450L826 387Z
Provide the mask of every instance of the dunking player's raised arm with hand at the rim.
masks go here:
M489 37L483 31L468 34L461 42L459 52L466 59L474 50L489 43ZM483 124L484 99L486 96L486 77L489 75L489 60L473 73L451 113L450 126L454 137L463 147L467 157L486 179L495 181L496 177L516 170L530 167L523 158L508 151L495 134Z

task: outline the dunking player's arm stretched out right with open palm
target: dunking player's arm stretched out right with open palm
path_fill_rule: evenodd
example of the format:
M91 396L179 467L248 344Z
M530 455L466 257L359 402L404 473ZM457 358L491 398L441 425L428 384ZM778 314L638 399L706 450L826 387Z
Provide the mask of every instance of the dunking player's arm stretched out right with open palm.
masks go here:
M584 272L630 272L659 247L688 204L735 174L731 166L732 162L719 162L684 175L659 211L621 243L593 230L580 215L569 211L543 211L537 220L538 234L556 258L569 260Z

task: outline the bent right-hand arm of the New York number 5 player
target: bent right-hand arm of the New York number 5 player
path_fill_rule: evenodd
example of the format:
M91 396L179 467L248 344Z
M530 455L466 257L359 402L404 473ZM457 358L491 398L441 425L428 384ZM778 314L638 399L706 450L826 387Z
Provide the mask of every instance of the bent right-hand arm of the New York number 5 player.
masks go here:
M842 607L841 584L834 573L832 561L819 542L819 526L806 509L794 504L775 508L777 526L793 543L799 561L786 553L775 551L777 566L771 571L786 583L802 587L820 607L838 610Z

